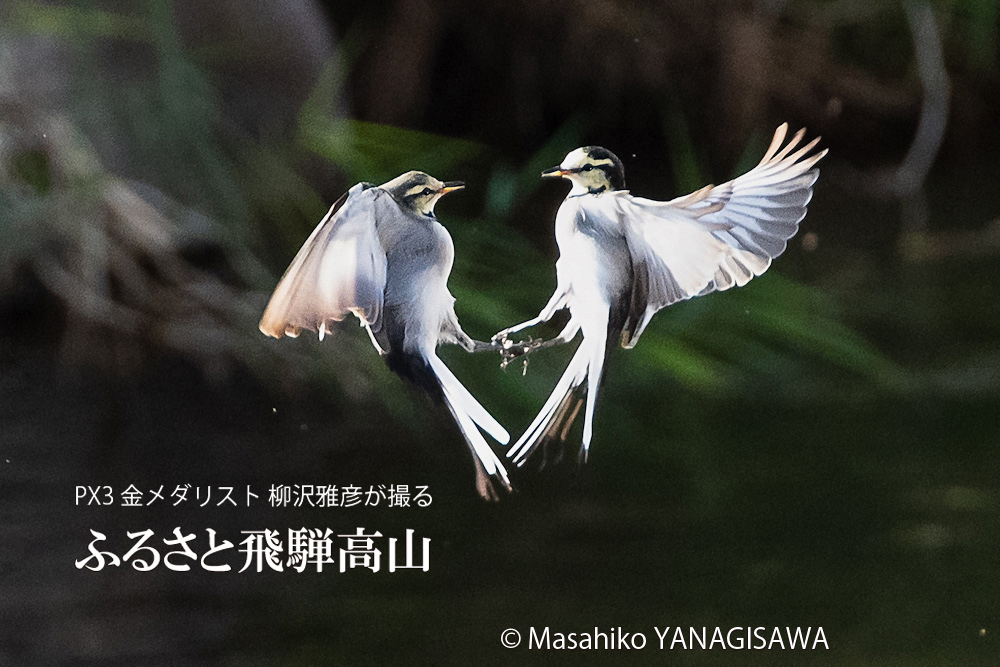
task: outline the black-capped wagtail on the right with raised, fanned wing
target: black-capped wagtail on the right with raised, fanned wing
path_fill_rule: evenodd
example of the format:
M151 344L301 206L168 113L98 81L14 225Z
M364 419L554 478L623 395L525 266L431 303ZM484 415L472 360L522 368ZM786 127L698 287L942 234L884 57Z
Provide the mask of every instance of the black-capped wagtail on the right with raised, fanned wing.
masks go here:
M517 465L539 445L565 442L584 393L585 461L601 372L614 342L634 347L661 308L745 285L785 250L812 198L819 177L813 167L826 155L810 154L818 138L800 147L804 130L785 144L787 132L787 124L777 129L760 164L746 174L667 202L629 194L621 160L599 146L577 148L542 172L573 186L556 213L556 291L538 317L499 332L494 341L511 344L510 334L569 308L570 320L556 338L521 351L568 343L581 330L583 342L508 450Z

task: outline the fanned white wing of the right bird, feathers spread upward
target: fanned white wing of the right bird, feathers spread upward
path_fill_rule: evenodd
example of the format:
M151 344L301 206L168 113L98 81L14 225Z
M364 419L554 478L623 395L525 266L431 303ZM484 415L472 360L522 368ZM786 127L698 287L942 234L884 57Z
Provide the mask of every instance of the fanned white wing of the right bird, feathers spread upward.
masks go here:
M786 144L787 133L782 124L760 163L728 183L668 202L619 198L636 273L625 347L661 308L743 286L784 252L806 215L819 178L814 167L826 155L810 155L818 137L800 147L805 130Z

